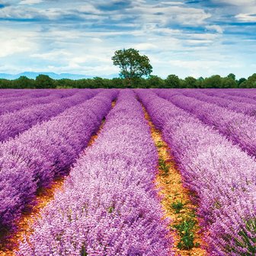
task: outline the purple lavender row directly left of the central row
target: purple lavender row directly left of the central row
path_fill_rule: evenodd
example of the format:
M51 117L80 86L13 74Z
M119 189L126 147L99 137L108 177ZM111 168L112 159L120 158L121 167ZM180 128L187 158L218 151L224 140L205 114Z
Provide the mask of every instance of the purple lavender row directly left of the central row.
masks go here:
M10 228L39 187L48 186L87 146L117 91L104 91L37 124L0 149L0 229Z

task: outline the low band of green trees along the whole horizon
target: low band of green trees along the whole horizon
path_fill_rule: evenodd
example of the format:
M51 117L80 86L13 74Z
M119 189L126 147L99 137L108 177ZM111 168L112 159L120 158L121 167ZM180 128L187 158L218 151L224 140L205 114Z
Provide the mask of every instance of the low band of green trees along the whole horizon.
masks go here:
M59 79L48 75L38 75L36 79L21 76L15 80L0 79L0 88L256 88L256 73L250 77L236 79L234 74L226 77L213 75L209 78L194 78L188 76L181 79L177 75L168 75L162 79L157 75L149 78L135 78L131 85L124 78L88 78L88 79Z

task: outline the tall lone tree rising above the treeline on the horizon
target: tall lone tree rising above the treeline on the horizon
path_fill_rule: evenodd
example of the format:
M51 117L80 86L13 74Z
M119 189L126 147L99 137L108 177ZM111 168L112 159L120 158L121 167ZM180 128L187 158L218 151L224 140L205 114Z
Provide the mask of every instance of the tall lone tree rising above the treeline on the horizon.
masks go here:
M112 60L114 66L120 67L120 77L128 81L128 86L132 84L135 78L149 76L152 73L149 58L140 55L139 51L133 48L115 51Z

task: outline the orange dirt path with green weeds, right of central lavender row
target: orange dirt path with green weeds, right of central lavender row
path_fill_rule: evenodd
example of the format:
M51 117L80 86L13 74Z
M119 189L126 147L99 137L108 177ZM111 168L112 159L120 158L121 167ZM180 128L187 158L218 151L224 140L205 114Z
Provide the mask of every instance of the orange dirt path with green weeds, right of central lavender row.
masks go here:
M155 128L145 107L143 110L158 149L158 175L155 184L162 197L165 217L172 220L170 232L174 238L174 248L171 249L175 256L206 256L206 244L195 214L197 206L190 201L190 190L182 184L181 173L167 143L162 139L161 131Z

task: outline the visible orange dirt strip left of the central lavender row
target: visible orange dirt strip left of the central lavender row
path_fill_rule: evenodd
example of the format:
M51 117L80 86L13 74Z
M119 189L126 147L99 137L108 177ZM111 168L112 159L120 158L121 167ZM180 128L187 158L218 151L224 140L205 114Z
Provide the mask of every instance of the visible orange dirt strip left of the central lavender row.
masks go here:
M116 101L113 101L112 108L115 106L115 104ZM102 120L98 132L91 136L88 146L91 146L95 139L97 139L99 133L101 133L104 126L104 121L105 120ZM8 238L5 239L3 244L0 244L0 256L15 255L15 251L18 251L18 246L20 242L23 241L23 238L28 237L33 232L32 226L34 219L40 218L40 211L43 210L43 208L54 199L56 192L62 190L62 186L67 177L68 175L61 178L56 178L49 188L45 188L40 191L36 198L36 205L31 207L29 213L23 213L21 216L21 219L17 225L17 232L7 234Z

